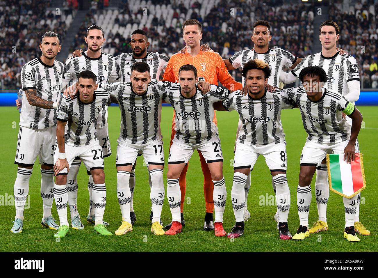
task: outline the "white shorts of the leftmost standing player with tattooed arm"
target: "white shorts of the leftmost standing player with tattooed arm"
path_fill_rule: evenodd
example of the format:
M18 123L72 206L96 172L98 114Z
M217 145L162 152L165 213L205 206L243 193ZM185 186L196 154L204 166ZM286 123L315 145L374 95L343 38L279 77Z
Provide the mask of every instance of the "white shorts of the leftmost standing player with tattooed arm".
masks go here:
M38 156L40 164L54 166L55 141L55 126L45 129L31 129L20 126L14 164L26 167L33 166Z

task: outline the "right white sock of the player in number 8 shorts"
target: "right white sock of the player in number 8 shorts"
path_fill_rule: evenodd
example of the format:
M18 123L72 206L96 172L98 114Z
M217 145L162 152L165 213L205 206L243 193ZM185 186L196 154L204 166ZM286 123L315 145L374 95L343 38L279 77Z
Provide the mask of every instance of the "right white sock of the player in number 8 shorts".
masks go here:
M278 174L273 177L276 185L277 210L280 216L280 222L287 222L290 210L290 189L287 184L286 174Z

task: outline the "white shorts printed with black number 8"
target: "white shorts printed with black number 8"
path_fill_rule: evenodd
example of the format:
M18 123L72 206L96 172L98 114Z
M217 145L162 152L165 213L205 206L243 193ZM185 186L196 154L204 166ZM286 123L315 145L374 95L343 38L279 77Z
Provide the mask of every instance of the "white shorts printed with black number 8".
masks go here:
M253 146L237 142L234 169L251 168L252 171L260 154L265 158L266 165L271 172L286 172L287 155L285 143Z

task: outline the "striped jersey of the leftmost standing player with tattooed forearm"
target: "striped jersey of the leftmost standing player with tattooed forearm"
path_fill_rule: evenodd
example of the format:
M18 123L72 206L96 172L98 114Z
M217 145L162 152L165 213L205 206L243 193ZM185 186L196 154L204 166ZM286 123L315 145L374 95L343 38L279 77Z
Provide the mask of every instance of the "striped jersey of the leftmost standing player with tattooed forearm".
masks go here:
M29 104L25 90L36 89L37 96L47 101L58 101L62 90L62 76L64 65L54 61L49 66L38 57L27 62L21 70L22 110L20 114L20 126L34 129L44 129L56 126L55 110L44 109Z

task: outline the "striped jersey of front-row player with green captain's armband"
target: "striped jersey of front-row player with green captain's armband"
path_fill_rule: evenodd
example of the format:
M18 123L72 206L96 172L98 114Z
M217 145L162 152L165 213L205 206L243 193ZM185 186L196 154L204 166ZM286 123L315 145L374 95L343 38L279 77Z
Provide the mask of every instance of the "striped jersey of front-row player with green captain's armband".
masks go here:
M339 143L349 140L349 129L342 119L342 111L349 101L338 92L322 87L318 102L308 99L303 86L284 89L297 104L302 114L302 123L308 134L307 140L316 143ZM349 115L350 113L347 113Z

